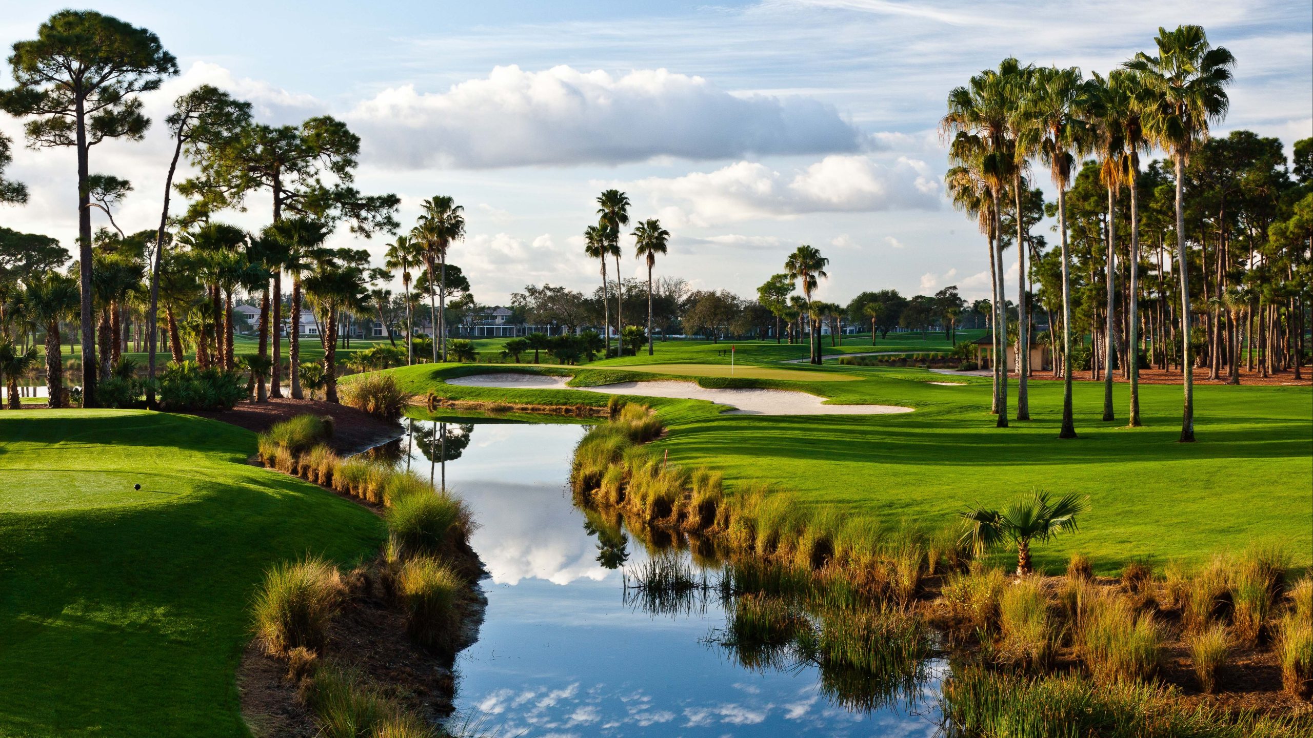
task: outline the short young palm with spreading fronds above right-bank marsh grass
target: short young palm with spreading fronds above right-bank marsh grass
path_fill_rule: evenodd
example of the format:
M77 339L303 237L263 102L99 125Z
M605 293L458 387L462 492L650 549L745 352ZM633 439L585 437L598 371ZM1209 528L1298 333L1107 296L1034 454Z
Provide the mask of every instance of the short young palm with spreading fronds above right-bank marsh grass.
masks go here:
M1061 532L1075 533L1075 516L1090 510L1088 498L1065 495L1049 503L1049 494L1035 490L1022 495L1003 510L968 508L957 515L966 521L961 541L976 555L982 555L1003 545L1016 548L1016 575L1031 573L1031 541L1048 541Z

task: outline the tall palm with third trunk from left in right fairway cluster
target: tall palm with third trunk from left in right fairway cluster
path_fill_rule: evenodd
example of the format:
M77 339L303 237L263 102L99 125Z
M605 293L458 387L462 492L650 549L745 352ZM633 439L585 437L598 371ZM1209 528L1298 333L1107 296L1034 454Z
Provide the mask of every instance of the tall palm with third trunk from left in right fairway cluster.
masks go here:
M1062 250L1062 428L1060 439L1075 437L1071 408L1071 256L1067 251L1066 190L1075 156L1085 154L1087 129L1077 112L1087 89L1081 70L1039 68L1022 106L1019 154L1039 156L1058 188L1058 240ZM1075 156L1073 156L1075 152Z

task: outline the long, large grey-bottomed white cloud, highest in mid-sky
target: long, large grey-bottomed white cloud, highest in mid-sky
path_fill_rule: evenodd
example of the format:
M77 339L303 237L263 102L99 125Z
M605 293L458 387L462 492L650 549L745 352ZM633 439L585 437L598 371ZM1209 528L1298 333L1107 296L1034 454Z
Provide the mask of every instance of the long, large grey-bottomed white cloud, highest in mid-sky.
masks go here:
M385 89L347 119L368 133L372 158L406 168L727 159L877 143L814 98L734 95L667 70L617 76L499 66L446 92Z

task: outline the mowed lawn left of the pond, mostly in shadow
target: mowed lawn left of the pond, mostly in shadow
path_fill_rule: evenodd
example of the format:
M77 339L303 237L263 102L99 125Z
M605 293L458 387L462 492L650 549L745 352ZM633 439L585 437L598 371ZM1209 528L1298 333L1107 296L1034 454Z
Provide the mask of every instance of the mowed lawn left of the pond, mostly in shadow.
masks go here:
M383 538L252 453L185 415L0 411L0 735L248 734L235 670L264 570Z

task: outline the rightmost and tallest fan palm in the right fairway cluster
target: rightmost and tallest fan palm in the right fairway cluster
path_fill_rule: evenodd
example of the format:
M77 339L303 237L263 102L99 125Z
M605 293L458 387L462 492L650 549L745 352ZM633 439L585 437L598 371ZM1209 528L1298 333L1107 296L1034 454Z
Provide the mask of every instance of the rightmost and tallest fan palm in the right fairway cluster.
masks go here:
M1236 58L1230 51L1208 43L1204 29L1195 25L1158 29L1154 39L1158 55L1136 54L1125 67L1140 74L1144 88L1137 102L1145 135L1171 154L1176 180L1176 244L1180 259L1180 366L1184 406L1180 441L1195 440L1195 377L1190 356L1190 284L1186 248L1186 160L1195 146L1208 138L1208 126L1226 116L1230 101L1226 85Z

